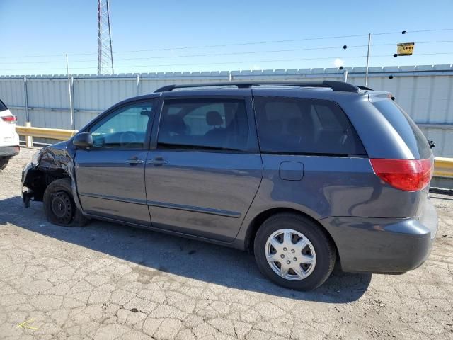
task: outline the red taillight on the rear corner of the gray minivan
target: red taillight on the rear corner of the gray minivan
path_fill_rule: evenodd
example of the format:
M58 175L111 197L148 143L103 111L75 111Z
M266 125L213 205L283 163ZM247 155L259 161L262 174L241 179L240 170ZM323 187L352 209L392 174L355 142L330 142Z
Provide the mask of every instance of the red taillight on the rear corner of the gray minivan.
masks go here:
M374 173L394 188L419 191L432 177L432 159L369 159Z

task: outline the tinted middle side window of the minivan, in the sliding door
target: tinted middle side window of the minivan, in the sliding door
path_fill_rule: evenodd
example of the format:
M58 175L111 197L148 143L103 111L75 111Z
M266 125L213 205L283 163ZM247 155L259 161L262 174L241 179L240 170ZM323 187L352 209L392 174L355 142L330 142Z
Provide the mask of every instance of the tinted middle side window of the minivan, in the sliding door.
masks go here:
M166 100L158 145L166 149L246 151L246 103L240 99Z

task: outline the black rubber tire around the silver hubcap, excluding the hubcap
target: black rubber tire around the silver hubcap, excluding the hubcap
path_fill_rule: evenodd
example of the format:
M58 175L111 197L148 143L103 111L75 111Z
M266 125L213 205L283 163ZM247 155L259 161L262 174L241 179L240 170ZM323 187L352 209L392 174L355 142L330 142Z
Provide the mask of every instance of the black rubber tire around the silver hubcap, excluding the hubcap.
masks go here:
M288 280L273 271L266 259L265 249L268 237L279 229L293 229L309 239L316 253L316 264L313 271L302 280ZM264 276L277 285L294 290L312 290L322 285L333 271L336 251L333 242L316 222L308 217L292 213L280 213L265 220L256 233L253 245L256 263ZM275 263L275 262L274 262Z

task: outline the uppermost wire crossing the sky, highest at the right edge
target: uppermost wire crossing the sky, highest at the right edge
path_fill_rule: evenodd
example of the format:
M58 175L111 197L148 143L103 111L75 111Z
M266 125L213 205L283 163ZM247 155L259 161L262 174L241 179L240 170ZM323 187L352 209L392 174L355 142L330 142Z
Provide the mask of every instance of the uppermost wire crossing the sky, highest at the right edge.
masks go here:
M441 29L431 29L431 30L408 30L407 33L427 33L427 32L440 32L440 31L452 31L453 28L441 28ZM392 34L401 34L402 31L398 32L382 32L382 33L372 33L372 35L392 35ZM366 37L368 34L354 34L354 35L331 35L331 36L324 36L324 37L316 37L316 38L299 38L299 39L286 39L286 40L265 40L265 41L258 41L258 42L236 42L231 44L219 44L219 45L199 45L199 46L183 46L183 47L164 47L164 48L155 48L149 50L123 50L113 52L113 54L118 53L135 53L135 52L157 52L157 51L168 51L168 50L190 50L190 49L198 49L198 48L210 48L210 47L231 47L231 46L244 46L244 45L263 45L263 44L271 44L271 43L278 43L278 42L300 42L300 41L308 41L308 40L328 40L328 39L338 39L338 38L358 38L358 37ZM97 53L93 52L84 52L84 53L67 53L69 56L74 55L96 55ZM6 58L25 58L25 57L61 57L64 53L55 54L55 55L20 55L20 56L9 56L9 57L0 57L0 59Z

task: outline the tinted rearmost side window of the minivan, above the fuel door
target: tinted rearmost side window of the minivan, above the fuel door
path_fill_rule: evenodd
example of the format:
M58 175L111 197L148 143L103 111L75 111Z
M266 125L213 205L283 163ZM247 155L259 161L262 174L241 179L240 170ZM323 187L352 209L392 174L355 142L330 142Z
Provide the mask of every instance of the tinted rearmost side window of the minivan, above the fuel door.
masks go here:
M337 103L319 99L255 97L261 152L365 155Z

